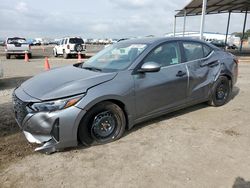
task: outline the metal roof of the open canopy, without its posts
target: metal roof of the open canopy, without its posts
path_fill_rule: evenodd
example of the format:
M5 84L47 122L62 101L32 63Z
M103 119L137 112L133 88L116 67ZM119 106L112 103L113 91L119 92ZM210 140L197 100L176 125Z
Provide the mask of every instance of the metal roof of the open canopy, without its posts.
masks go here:
M201 15L202 0L192 0L182 10L179 10L176 17ZM207 0L206 14L218 13L245 13L250 11L250 0Z

